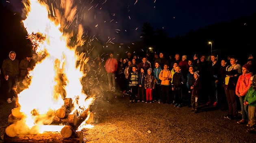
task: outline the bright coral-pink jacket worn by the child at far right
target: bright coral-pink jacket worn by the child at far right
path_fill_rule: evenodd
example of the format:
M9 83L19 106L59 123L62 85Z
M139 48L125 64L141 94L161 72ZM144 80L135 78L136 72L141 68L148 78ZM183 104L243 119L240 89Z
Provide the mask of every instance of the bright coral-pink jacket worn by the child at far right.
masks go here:
M251 77L252 72L239 76L238 81L236 83L236 95L246 95L252 83L252 81L250 80Z

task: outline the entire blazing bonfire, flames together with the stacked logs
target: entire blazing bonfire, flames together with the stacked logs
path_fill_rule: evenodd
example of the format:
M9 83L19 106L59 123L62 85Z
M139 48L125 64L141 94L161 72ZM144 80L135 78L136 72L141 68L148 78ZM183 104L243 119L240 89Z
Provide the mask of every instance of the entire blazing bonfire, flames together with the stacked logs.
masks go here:
M64 36L61 31L68 26L48 18L50 10L47 4L34 0L24 5L27 18L23 23L28 38L33 50L44 55L44 59L23 81L27 86L18 94L17 107L9 115L8 122L11 125L6 128L4 140L82 142L83 134L78 128L89 117L89 105L93 102L93 98L87 98L82 90L81 79L85 75L81 70L82 65L77 66L78 61L88 61L75 52L76 46L84 43L82 26L78 26L76 46L68 46L74 34L65 33ZM61 7L65 8L66 21L71 21L75 12L71 9L75 8L72 1L62 3ZM60 15L58 10L55 13ZM57 21L62 18L58 17Z

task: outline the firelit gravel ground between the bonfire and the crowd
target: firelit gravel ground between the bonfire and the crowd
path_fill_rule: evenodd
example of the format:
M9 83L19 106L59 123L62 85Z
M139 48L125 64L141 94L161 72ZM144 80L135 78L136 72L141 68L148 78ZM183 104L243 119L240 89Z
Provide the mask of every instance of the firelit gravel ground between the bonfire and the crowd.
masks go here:
M6 103L1 95L0 134L9 124L14 103ZM190 112L187 106L173 104L133 103L121 93L104 93L91 105L88 123L93 128L83 129L86 143L192 143L245 142L255 143L256 134L246 132L246 124L223 118L228 111L201 105L202 111ZM3 141L0 141L3 142Z

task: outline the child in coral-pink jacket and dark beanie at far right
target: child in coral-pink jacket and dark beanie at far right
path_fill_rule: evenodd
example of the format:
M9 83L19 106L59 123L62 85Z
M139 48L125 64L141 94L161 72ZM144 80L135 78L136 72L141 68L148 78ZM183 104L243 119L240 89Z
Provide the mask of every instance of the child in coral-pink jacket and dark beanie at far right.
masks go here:
M252 72L249 72L251 68L251 65L245 64L242 67L242 75L239 76L237 84L236 84L236 95L239 97L240 105L241 105L241 111L242 111L242 120L238 121L238 124L245 123L245 118L248 119L249 124L249 117L248 117L248 105L243 104L243 100L245 98L245 95L248 91L248 89L251 86L251 80Z

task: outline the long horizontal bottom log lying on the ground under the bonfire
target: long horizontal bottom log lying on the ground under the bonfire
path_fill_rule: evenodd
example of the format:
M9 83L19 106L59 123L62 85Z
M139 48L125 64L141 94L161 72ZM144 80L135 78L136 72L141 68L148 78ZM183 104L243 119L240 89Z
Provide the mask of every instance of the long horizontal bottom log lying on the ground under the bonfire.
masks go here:
M5 143L82 143L83 133L75 132L69 138L63 138L60 132L43 132L37 135L17 135L9 137L4 134Z

